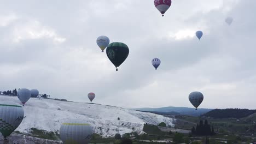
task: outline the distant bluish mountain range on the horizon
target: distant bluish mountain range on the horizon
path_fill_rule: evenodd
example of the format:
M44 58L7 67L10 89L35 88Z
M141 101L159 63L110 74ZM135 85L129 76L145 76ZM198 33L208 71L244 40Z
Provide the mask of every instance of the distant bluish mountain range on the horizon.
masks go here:
M137 111L144 111L144 112L152 112L158 114L168 114L168 115L188 115L188 116L201 116L204 113L207 113L213 109L197 109L189 108L189 107L160 107L160 108L137 108L132 109Z

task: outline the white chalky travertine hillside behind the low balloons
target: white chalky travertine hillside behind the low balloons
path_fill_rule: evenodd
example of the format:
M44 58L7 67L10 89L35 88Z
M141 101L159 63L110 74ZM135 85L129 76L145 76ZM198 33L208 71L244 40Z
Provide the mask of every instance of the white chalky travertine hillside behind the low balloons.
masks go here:
M1 95L0 101L20 104L17 97ZM157 125L165 122L174 127L173 118L99 104L31 98L24 106L24 111L25 118L16 131L28 134L31 134L31 128L58 132L61 123L69 119L84 119L94 127L95 133L104 137L132 131L142 134L144 123Z

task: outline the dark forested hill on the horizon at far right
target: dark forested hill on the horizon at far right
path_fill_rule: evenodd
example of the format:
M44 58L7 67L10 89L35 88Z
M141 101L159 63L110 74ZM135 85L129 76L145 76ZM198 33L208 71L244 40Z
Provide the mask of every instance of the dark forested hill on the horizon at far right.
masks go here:
M202 116L212 118L243 118L252 115L256 110L248 109L215 109Z

